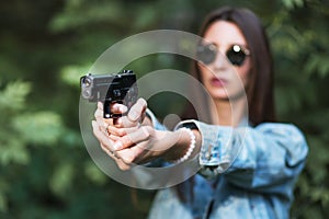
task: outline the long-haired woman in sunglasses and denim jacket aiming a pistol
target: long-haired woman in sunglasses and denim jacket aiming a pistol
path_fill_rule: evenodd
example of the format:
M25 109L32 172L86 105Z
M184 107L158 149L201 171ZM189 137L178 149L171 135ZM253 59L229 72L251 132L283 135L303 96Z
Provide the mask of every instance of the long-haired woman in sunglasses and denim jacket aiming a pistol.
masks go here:
M127 116L104 126L99 104L93 132L123 170L157 158L198 163L193 177L159 191L149 218L288 218L308 149L295 126L274 123L264 30L251 11L222 8L206 18L200 35L204 41L192 74L211 96L195 93L208 116L197 118L188 107L189 120L173 131L159 130L162 126L151 113L145 117L147 104L140 99ZM127 108L114 104L112 112Z

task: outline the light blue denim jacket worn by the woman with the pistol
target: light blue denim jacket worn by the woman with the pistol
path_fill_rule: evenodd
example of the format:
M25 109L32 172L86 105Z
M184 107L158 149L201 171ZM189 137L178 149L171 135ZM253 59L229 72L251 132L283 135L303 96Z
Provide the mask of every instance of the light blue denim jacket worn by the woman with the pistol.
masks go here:
M156 128L162 129L154 119ZM193 197L181 201L174 188L158 191L149 219L285 219L290 217L295 182L308 147L304 135L290 124L223 127L197 120L201 169L193 177ZM189 185L189 184L188 184ZM189 194L189 186L184 186Z

